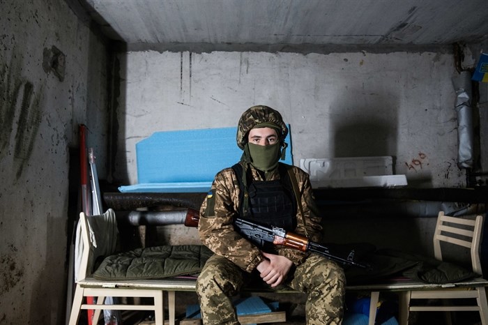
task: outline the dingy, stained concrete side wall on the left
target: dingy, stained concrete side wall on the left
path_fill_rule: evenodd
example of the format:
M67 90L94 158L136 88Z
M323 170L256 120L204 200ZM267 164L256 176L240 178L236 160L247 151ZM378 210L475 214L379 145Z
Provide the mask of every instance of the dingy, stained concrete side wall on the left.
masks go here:
M69 151L86 124L106 176L106 48L63 0L0 16L0 323L66 324Z

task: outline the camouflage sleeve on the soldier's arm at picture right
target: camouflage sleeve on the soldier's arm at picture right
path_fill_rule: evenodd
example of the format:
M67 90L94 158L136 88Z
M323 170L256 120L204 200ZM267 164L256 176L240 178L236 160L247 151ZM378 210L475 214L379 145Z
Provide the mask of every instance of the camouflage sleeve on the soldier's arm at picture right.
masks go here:
M300 204L302 205L303 211L303 215L300 209L297 211L297 226L293 232L307 236L310 241L320 242L322 239L321 217L315 204L310 176L298 167L293 167L293 174L296 176L298 190L300 191ZM308 253L291 248L278 248L278 252L296 265L302 264L309 255Z

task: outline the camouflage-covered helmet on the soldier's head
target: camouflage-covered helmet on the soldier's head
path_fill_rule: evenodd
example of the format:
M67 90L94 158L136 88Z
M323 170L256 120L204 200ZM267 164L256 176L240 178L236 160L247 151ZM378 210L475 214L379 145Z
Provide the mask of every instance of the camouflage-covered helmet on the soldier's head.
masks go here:
M237 145L239 148L244 149L247 143L247 134L258 125L275 128L280 142L284 142L284 138L288 135L287 125L283 122L280 112L264 105L253 106L247 109L239 119L237 125Z

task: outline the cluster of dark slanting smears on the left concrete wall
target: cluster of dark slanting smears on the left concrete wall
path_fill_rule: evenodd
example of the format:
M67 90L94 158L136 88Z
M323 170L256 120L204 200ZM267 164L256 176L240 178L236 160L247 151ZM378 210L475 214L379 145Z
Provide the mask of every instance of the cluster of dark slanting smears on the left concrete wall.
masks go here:
M22 56L13 50L10 63L4 63L0 68L0 94L3 99L0 104L0 159L12 154L10 146L13 146L16 180L31 157L43 117L40 107L43 86L34 91L34 85L22 77L22 65ZM17 109L20 112L15 114ZM14 143L11 145L13 133Z

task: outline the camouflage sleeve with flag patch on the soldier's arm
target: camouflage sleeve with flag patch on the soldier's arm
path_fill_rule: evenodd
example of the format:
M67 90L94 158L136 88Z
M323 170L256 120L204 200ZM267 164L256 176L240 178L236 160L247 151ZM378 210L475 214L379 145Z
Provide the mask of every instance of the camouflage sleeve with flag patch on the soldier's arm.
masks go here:
M215 176L211 191L201 204L199 236L215 254L226 257L247 272L251 272L263 260L259 248L234 230L239 190L231 168Z

